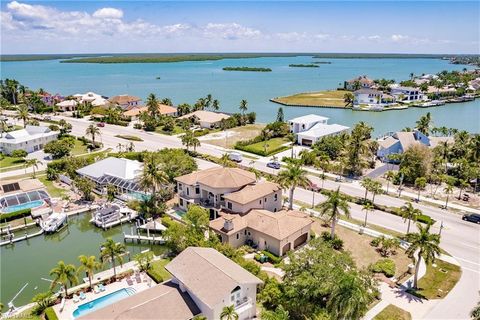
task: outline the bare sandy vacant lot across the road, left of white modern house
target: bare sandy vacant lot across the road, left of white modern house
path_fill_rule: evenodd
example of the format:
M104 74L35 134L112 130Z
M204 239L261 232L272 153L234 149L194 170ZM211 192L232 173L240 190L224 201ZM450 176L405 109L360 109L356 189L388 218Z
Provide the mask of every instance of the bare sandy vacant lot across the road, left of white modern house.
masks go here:
M263 124L247 124L226 131L210 133L202 138L202 142L214 144L223 148L233 148L238 141L250 140L260 134L265 127ZM225 139L225 132L228 137Z

